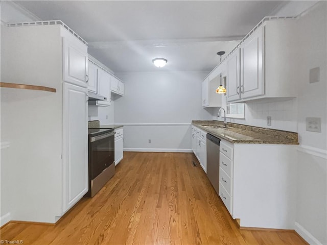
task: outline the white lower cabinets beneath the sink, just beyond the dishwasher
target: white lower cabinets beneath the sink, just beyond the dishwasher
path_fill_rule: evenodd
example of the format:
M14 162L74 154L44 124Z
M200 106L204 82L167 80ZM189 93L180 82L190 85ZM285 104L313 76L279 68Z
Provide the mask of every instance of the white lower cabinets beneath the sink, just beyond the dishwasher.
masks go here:
M206 132L192 126L191 145L194 155L206 173Z

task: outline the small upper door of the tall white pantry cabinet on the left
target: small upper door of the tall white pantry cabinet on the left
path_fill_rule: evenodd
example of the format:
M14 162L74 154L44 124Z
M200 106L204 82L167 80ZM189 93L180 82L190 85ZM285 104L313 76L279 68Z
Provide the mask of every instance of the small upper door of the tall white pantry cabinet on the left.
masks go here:
M62 38L63 78L62 80L78 86L87 87L87 46L78 40Z

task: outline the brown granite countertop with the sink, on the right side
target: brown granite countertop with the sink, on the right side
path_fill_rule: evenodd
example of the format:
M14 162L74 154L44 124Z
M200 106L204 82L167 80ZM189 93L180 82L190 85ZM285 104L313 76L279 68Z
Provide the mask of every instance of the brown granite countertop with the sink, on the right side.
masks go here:
M192 125L231 143L251 144L299 144L294 132L265 129L241 124L227 123L227 128L206 128L203 126L221 126L222 121L192 121Z

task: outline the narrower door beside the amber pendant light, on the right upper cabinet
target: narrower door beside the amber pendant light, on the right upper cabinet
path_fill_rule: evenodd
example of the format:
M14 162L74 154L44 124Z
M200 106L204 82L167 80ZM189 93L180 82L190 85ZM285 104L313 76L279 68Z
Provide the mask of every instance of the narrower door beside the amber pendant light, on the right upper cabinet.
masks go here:
M227 60L227 101L241 98L240 93L240 50L236 50Z

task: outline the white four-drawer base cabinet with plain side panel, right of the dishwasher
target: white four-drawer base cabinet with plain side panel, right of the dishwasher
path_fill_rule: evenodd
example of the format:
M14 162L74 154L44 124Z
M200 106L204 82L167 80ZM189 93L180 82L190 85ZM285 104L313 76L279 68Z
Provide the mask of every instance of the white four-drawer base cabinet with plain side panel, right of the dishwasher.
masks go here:
M220 142L219 196L241 227L293 229L293 145Z

